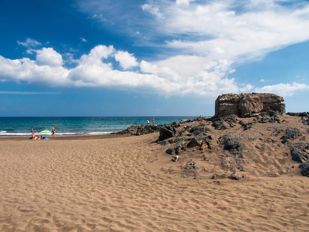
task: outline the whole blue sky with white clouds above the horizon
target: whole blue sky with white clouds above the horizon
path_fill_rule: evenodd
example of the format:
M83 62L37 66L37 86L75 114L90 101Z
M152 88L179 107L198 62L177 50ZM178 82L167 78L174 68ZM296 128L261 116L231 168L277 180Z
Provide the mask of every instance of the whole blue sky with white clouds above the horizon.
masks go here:
M309 1L0 1L1 116L212 116L224 93L309 110Z

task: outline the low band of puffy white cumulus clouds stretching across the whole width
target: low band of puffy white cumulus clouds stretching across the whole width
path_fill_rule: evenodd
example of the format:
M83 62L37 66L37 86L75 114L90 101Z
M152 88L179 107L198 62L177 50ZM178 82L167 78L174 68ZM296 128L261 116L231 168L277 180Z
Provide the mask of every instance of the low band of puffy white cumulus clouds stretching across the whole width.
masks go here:
M165 96L195 95L216 97L218 94L247 92L253 89L251 84L238 84L234 78L227 78L226 73L233 71L231 61L219 59L204 64L207 70L195 75L185 76L181 70L159 66L147 61L140 62L140 71L119 71L112 63L104 59L114 57L123 68L138 65L133 54L117 51L112 45L97 45L88 54L74 60L74 68L63 67L62 57L53 48L36 50L36 60L29 58L8 59L0 56L0 81L25 81L28 83L47 84L49 86L97 87L131 89L142 92L155 92ZM125 54L125 55L124 55ZM65 54L72 58L72 54ZM121 57L121 58L119 58ZM123 58L129 58L130 62ZM131 59L133 58L133 59ZM122 60L123 59L123 60ZM172 66L172 65L171 65ZM292 95L299 90L308 90L306 84L277 84L256 88L255 92L279 92Z

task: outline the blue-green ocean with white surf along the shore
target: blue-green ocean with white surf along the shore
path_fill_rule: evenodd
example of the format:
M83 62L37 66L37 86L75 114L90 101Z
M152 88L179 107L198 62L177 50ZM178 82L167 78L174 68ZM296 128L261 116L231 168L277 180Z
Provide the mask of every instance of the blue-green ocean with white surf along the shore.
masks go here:
M155 125L166 124L197 116L158 116ZM31 127L36 135L43 130L52 131L56 126L56 135L100 135L125 130L129 126L146 125L148 118L142 117L0 117L0 136L31 135ZM51 135L44 134L44 135Z

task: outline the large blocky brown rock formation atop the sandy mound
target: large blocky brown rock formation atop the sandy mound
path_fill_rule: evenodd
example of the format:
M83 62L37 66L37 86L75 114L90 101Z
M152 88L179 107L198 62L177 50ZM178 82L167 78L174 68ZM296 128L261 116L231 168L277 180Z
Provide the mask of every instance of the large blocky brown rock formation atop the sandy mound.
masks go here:
M260 112L275 111L285 113L283 97L272 93L223 94L215 102L215 117L235 114L249 117Z

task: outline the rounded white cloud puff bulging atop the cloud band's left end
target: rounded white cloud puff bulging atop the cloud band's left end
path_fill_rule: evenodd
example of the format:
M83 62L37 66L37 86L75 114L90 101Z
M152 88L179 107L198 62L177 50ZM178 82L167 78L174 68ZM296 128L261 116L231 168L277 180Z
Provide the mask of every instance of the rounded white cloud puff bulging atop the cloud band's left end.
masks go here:
M36 50L36 64L58 67L63 64L63 60L61 54L57 53L53 48L42 48Z

